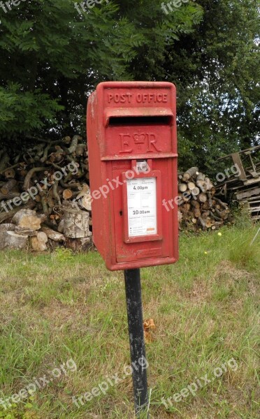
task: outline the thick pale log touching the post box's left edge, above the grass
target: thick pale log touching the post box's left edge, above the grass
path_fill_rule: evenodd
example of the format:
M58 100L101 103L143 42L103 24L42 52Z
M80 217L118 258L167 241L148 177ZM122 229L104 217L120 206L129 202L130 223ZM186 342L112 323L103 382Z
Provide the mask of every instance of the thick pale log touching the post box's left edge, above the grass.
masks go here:
M64 209L64 235L72 239L90 236L89 213L68 208Z

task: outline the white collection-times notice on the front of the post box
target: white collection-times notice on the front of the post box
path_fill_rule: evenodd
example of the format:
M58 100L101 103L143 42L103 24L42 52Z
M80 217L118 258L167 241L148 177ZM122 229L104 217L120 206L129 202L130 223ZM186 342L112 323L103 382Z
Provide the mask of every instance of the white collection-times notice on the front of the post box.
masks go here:
M156 177L127 180L129 237L157 234Z

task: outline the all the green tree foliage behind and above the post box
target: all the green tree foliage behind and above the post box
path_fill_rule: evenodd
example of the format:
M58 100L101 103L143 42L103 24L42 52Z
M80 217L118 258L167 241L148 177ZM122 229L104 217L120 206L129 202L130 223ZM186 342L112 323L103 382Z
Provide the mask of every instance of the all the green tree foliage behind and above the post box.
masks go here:
M73 0L0 8L3 140L85 135L96 84L167 80L178 89L180 166L210 174L216 157L257 144L256 1L189 1L168 15L158 0L86 9L80 15Z

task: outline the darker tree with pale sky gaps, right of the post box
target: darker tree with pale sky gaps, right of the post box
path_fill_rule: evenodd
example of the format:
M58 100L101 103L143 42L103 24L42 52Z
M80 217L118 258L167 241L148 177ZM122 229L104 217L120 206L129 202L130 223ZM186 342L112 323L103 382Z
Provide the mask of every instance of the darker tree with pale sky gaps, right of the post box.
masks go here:
M168 50L166 71L179 91L180 165L214 172L217 157L259 143L258 10L251 0L198 3L203 22Z

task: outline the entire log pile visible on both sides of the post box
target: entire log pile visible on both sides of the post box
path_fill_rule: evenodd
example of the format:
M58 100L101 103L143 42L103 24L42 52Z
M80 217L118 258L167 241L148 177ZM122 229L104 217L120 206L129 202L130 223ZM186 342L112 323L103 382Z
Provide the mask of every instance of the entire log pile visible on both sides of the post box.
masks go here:
M87 248L92 208L85 141L79 135L29 141L18 152L0 147L0 249ZM214 230L230 221L228 206L198 168L178 180L180 229Z

